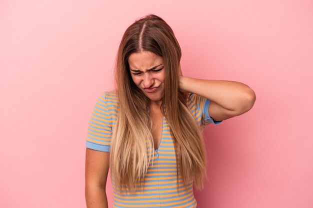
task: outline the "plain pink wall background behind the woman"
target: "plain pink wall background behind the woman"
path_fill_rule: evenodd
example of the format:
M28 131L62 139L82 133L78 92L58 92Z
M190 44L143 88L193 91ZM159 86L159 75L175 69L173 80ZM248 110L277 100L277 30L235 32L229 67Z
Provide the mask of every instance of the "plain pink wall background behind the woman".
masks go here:
M310 0L1 0L0 207L85 207L92 107L112 89L126 27L155 13L175 32L184 75L240 81L257 97L205 129L198 207L311 208L312 10Z

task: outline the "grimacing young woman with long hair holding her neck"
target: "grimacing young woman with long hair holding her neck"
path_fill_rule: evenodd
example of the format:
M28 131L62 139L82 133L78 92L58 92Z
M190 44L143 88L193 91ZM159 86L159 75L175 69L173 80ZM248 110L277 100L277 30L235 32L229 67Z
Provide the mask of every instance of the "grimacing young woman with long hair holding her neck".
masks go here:
M204 126L252 108L255 94L234 81L185 77L168 24L147 15L125 31L114 91L94 106L86 139L87 208L106 208L108 169L113 207L195 208L202 187Z

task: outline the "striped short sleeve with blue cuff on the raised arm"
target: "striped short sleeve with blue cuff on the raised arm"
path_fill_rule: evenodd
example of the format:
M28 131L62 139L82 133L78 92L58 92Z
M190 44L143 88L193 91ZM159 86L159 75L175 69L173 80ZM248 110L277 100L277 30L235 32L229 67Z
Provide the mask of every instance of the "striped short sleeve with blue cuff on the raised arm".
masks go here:
M186 103L191 113L194 115L195 121L201 128L204 128L206 125L210 123L219 124L221 122L214 121L210 117L208 113L208 106L210 103L209 99L206 99L205 97L199 96L194 93L190 93L187 96Z

